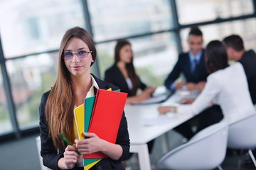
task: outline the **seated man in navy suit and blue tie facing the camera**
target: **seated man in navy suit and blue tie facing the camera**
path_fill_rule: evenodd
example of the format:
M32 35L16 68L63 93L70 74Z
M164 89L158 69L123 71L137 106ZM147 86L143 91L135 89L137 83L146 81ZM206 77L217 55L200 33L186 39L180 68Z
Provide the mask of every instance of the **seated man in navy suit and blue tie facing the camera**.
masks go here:
M199 28L191 28L188 34L188 45L189 52L178 56L178 62L164 82L167 89L175 91L185 86L188 90L203 90L208 72L203 57L203 33ZM176 82L181 74L185 81Z

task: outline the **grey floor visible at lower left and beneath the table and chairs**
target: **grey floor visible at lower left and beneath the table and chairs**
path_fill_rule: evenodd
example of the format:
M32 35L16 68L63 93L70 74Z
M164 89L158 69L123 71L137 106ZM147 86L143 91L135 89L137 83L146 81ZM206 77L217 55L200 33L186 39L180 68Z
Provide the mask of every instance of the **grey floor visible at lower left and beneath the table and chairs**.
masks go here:
M8 170L37 170L40 169L38 152L36 149L36 136L33 134L29 137L23 137L21 140L14 140L10 142L0 143L0 169ZM182 137L176 132L170 131L169 137L169 149L181 145ZM157 162L160 157L164 154L161 147L162 138L159 137L154 142L154 149L150 155L151 164L156 170ZM245 156L242 156L244 158ZM139 162L136 154L133 155L132 159L127 162L130 166L130 170L139 170ZM223 170L234 170L238 169L238 154L227 154L223 164L221 164ZM255 169L255 168L251 168ZM215 169L214 169L215 170ZM241 168L245 170L245 168ZM248 170L248 169L247 169ZM249 169L250 170L250 169Z

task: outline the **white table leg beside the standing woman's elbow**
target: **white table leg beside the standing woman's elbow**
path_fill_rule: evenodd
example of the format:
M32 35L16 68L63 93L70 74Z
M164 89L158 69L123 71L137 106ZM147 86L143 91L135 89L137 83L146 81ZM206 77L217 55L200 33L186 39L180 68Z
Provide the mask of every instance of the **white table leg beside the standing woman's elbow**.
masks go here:
M150 170L149 149L146 144L144 145L130 145L130 152L138 153L139 156L139 169Z

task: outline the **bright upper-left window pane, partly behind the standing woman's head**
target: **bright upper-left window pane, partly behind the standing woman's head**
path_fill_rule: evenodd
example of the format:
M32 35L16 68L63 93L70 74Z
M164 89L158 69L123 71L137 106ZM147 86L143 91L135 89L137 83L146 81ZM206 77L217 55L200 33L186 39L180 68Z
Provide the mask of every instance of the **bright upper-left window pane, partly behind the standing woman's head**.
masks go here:
M85 26L80 0L0 2L5 57L58 49L68 28Z

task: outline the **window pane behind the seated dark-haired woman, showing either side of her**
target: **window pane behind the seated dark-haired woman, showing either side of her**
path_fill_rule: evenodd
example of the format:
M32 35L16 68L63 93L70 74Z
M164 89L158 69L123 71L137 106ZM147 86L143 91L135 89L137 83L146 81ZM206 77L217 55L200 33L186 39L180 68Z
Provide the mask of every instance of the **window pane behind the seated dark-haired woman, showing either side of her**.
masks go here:
M140 79L148 85L163 85L178 57L174 34L161 33L129 41L134 52L134 67ZM102 77L105 70L114 63L115 44L109 42L97 45L97 61Z

